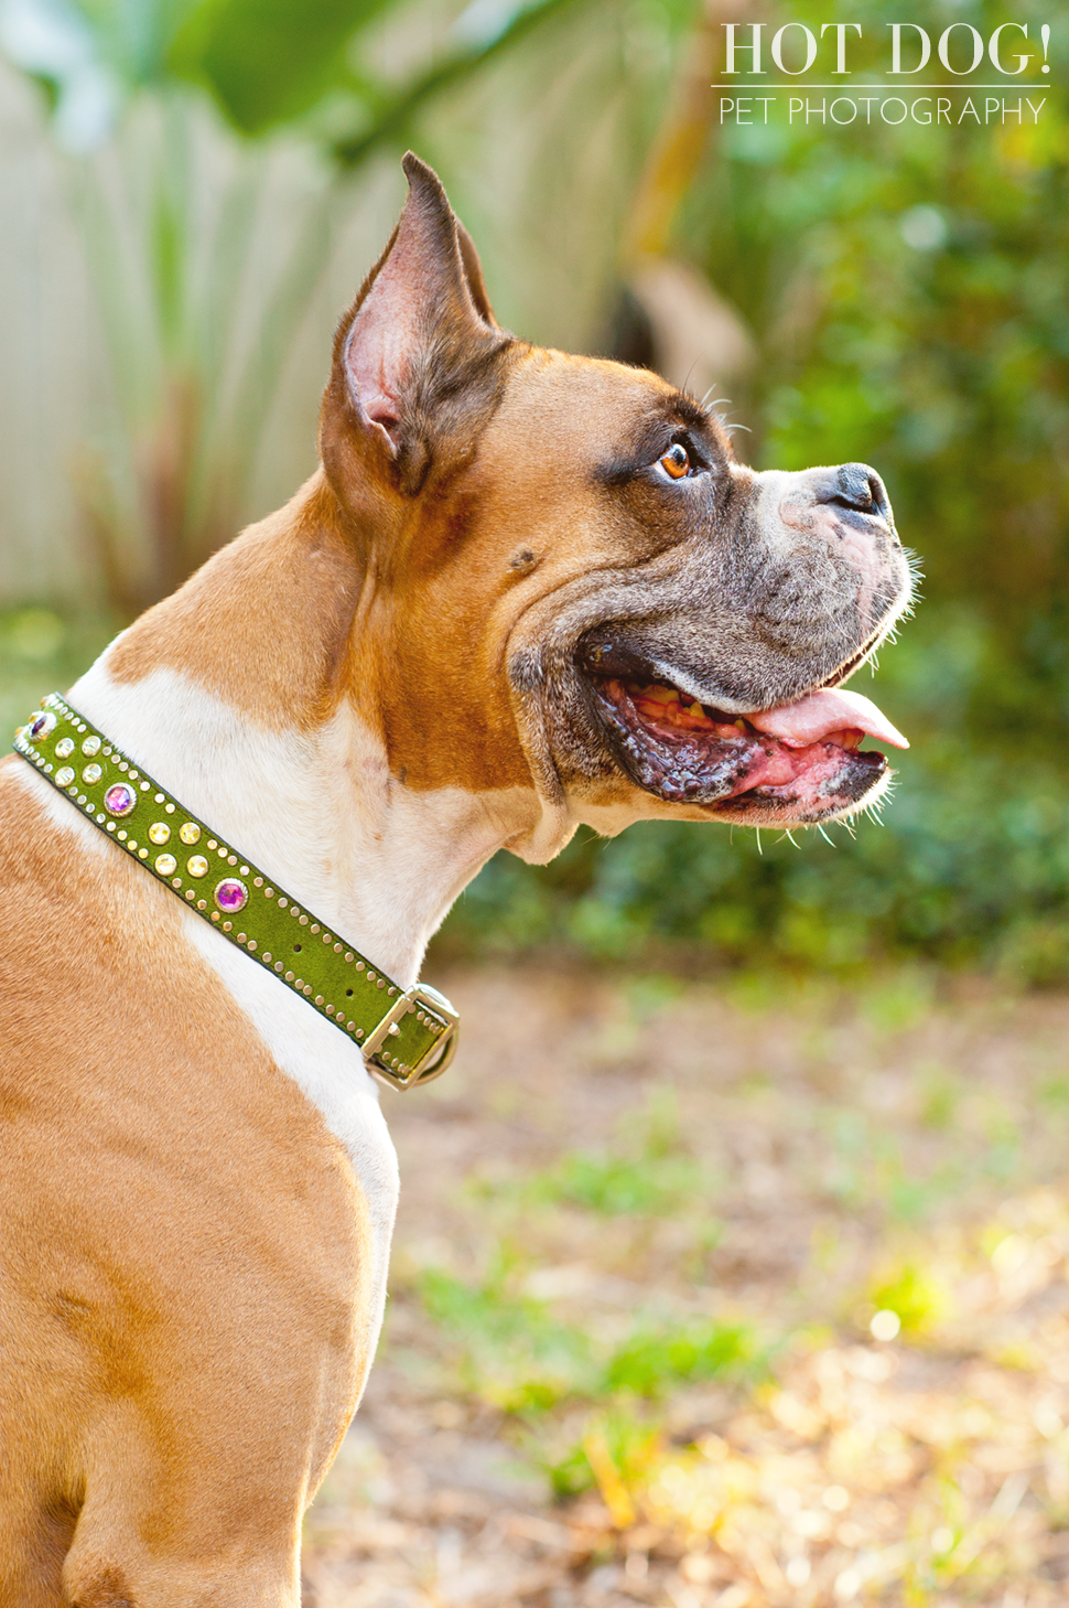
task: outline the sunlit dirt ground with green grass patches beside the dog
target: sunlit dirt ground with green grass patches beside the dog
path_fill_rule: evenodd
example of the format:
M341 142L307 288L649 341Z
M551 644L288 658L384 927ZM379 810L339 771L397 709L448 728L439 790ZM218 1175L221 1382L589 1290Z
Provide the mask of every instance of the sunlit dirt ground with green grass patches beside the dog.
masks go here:
M434 981L307 1602L1069 1602L1069 997Z

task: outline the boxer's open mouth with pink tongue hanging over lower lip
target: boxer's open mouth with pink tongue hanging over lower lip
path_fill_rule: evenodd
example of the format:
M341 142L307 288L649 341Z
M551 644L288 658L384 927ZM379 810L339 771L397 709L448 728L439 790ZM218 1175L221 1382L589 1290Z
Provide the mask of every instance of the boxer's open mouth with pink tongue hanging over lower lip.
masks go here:
M593 675L595 708L638 786L757 825L834 820L871 801L889 777L866 736L907 740L860 693L817 688L747 716L698 703L670 682Z

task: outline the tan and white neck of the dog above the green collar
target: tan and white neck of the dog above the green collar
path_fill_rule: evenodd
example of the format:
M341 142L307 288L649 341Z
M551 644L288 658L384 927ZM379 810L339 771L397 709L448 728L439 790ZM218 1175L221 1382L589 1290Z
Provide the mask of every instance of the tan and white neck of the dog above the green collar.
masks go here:
M532 786L391 773L368 584L317 476L149 609L72 704L402 986L453 899L539 831Z

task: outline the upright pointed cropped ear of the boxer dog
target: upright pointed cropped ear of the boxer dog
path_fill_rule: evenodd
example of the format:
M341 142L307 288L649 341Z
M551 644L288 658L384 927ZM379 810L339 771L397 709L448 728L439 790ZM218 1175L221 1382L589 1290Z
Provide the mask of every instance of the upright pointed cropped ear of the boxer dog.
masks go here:
M400 222L346 314L323 399L323 447L349 415L365 458L392 465L400 489L423 484L439 441L455 433L461 399L510 338L498 328L468 230L437 174L412 151ZM485 389L485 384L481 386ZM362 437L362 439L360 439ZM328 465L330 468L330 465Z

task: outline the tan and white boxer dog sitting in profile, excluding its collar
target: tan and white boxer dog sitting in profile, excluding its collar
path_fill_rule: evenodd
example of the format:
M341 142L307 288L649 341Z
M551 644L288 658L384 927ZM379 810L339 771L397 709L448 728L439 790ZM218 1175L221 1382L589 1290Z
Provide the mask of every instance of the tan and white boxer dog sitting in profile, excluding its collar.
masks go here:
M902 740L839 688L910 598L878 474L754 473L656 375L516 339L405 172L322 468L69 695L402 991L500 847L876 801L862 736ZM293 1608L394 1150L341 1018L133 860L3 762L0 1603Z

